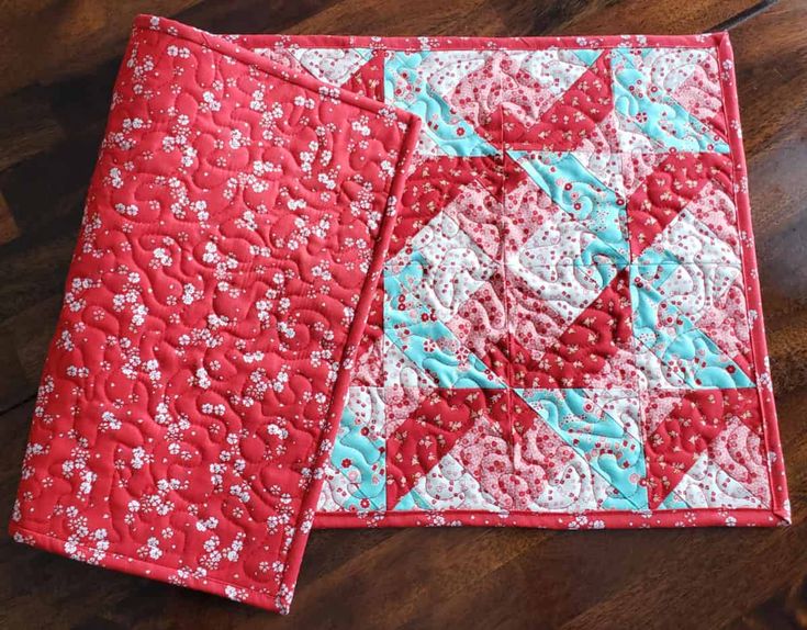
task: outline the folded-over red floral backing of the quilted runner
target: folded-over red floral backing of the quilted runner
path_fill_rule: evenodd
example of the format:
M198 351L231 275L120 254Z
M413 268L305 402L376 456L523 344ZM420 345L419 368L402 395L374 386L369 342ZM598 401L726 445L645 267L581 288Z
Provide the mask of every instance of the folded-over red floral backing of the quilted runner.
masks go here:
M417 126L137 21L16 540L288 611Z

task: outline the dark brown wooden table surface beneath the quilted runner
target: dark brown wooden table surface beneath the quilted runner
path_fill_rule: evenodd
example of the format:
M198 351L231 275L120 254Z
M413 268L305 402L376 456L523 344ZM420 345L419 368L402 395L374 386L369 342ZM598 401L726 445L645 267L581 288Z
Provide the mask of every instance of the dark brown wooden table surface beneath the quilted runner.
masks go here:
M794 524L764 530L315 531L289 617L88 566L4 532L132 18L214 32L729 30ZM0 2L0 627L807 627L807 0Z

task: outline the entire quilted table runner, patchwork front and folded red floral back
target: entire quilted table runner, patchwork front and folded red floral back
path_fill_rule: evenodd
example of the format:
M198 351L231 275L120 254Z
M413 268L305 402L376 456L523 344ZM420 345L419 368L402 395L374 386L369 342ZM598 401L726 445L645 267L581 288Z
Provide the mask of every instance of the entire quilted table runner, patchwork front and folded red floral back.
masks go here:
M725 33L137 19L18 540L288 611L312 526L788 519Z

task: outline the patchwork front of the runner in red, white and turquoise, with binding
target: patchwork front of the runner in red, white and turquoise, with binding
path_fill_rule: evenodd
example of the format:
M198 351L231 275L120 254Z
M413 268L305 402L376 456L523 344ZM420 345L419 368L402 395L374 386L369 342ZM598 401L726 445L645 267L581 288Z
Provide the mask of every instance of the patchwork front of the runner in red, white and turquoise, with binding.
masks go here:
M317 526L787 520L726 34L242 43L423 121Z

